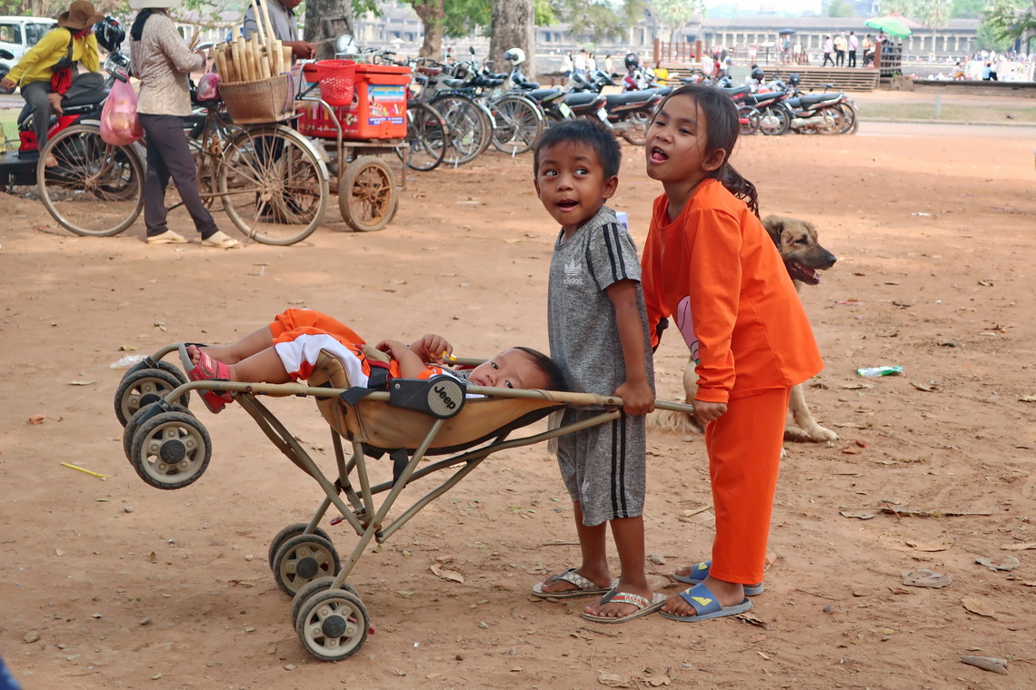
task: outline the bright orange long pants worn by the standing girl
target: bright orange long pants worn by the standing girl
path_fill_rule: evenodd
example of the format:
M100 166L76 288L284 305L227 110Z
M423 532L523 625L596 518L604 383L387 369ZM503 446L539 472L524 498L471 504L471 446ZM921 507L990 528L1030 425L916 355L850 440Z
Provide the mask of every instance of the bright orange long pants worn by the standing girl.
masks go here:
M709 573L727 582L762 581L789 388L739 397L706 426L716 539Z

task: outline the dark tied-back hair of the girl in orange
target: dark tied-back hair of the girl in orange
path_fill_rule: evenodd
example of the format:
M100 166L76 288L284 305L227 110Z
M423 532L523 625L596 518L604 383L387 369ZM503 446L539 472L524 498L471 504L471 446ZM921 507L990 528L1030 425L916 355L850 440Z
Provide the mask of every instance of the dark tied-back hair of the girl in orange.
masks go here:
M726 152L723 162L710 173L709 177L719 180L731 194L744 201L749 210L758 216L759 194L755 185L742 177L741 173L730 164L730 154L738 144L738 134L741 133L741 121L733 99L716 87L687 84L666 96L662 106L673 96L694 98L709 123L706 128L706 150L723 149Z

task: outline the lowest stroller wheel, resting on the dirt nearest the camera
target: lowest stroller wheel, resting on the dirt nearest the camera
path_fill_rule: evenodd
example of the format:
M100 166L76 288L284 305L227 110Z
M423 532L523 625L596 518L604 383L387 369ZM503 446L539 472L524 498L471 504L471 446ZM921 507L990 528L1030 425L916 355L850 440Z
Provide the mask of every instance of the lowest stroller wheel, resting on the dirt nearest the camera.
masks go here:
M359 597L346 590L312 595L298 611L295 632L306 651L322 661L346 659L367 641L370 617Z

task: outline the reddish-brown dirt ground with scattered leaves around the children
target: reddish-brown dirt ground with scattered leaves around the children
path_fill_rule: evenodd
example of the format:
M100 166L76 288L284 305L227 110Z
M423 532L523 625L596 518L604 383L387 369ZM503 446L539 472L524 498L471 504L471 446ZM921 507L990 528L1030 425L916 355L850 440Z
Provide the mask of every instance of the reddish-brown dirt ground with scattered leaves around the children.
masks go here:
M110 365L120 348L232 340L286 306L370 338L443 332L471 356L546 349L556 229L529 158L412 175L386 230L348 232L333 206L284 248L147 246L142 221L79 238L37 202L0 198L0 655L26 690L1036 687L1036 137L932 131L755 137L735 158L765 213L812 220L839 258L803 299L826 360L807 398L841 438L787 444L750 621L600 626L582 602L531 598L578 559L541 444L490 457L365 553L350 581L376 632L335 664L303 650L266 566L272 536L316 509L315 482L237 406L213 417L194 399L207 473L146 485L123 456ZM642 241L660 189L642 151L624 153L613 206ZM191 231L183 216L173 228ZM685 361L670 335L662 397L679 396ZM856 376L877 365L903 376ZM312 401L268 404L333 469ZM653 431L649 447L648 567L673 593L673 568L709 556L707 460L700 437ZM344 523L324 527L352 548ZM976 562L1006 557L1020 565ZM952 583L903 584L924 568ZM1007 674L961 655L1005 658Z

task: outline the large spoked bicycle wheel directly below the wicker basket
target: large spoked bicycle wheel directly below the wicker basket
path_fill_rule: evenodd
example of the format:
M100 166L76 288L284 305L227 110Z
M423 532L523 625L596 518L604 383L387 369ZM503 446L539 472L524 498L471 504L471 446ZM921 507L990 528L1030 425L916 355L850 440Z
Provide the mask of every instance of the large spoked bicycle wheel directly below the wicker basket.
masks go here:
M327 168L293 129L248 127L227 143L215 164L227 215L257 242L294 244L323 220Z

